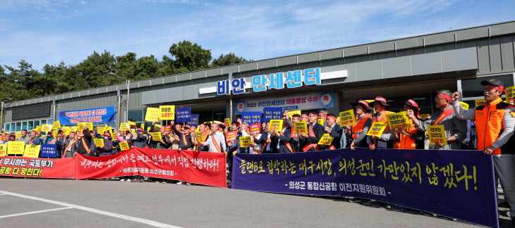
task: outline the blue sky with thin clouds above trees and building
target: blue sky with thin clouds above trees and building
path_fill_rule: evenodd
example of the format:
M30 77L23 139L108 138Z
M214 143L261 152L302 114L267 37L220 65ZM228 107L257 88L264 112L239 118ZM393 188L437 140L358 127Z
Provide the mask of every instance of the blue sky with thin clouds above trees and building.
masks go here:
M261 60L515 20L515 1L0 0L0 65L75 65L190 40Z

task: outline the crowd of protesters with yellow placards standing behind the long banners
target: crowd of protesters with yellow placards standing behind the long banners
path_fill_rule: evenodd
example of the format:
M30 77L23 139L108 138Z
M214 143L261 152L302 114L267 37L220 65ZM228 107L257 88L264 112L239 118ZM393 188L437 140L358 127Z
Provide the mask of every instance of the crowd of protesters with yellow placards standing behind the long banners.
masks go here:
M238 153L303 153L359 147L370 150L480 150L493 157L496 182L499 179L506 200L499 206L512 208L513 221L515 106L513 101L502 100L506 91L500 80L481 84L485 86L483 106L465 110L458 101L460 94L444 89L437 91L435 97L437 112L424 118L420 117L418 103L412 99L393 104L378 96L370 102L351 103L353 110L342 113L320 110L318 113L299 111L292 114L293 111L285 110L281 120L257 125L239 120L204 122L195 127L171 120L171 125L163 126L154 121L146 131L132 122L123 123L120 129L90 129L92 127L87 125L57 127L48 132L40 128L23 129L18 137L3 132L4 141L0 144L10 141L23 141L25 145L54 144L56 158L74 158L78 154L111 156L133 147L225 153L228 182L233 157ZM388 110L392 106L399 106L402 112L390 113ZM142 182L143 178L120 177L120 180ZM367 200L353 198L352 201L366 203Z

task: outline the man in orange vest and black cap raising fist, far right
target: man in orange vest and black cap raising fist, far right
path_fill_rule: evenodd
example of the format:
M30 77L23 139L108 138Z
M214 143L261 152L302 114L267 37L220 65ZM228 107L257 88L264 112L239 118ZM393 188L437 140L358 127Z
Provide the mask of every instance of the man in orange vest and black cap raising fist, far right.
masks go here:
M456 116L463 120L475 120L478 132L478 150L493 154L495 183L500 179L504 198L510 205L511 224L515 225L515 126L514 106L502 102L504 84L500 80L481 82L485 86L485 104L472 110L463 110L459 103L459 93L454 92L452 99ZM497 189L497 188L496 188Z

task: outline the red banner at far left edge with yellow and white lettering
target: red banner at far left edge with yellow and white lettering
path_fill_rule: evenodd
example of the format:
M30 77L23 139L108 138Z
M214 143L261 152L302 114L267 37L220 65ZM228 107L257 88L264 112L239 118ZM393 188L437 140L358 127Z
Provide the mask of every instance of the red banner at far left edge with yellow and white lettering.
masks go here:
M0 157L0 176L73 179L73 158Z

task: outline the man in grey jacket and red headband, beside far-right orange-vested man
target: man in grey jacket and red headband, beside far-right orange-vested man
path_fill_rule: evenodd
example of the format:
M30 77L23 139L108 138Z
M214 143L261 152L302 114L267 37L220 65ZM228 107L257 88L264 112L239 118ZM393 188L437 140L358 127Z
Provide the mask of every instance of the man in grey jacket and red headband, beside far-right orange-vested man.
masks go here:
M435 97L435 106L439 110L431 115L431 118L425 121L419 121L414 114L407 115L408 118L413 120L413 125L416 129L427 132L430 125L443 125L445 130L445 137L447 138L447 145L435 143L429 145L429 149L436 150L459 150L461 148L461 141L466 139L467 122L460 120L456 117L452 108L452 93L447 89L442 89L437 92ZM456 102L457 103L457 102ZM457 103L459 105L459 103Z

